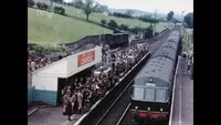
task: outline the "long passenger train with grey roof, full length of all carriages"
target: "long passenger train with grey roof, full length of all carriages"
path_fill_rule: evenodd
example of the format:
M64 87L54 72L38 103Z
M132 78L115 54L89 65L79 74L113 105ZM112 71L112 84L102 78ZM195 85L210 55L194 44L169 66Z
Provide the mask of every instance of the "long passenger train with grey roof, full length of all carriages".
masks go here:
M172 30L133 80L130 114L134 123L168 122L180 38L180 30Z

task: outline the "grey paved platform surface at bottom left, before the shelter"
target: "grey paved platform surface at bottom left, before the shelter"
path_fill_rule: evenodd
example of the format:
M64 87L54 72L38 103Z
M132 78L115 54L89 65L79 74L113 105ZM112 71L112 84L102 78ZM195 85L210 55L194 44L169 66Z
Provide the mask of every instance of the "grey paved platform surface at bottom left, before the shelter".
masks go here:
M62 114L62 107L39 108L28 117L28 125L73 125L82 115L72 115L72 121L67 121L67 116Z

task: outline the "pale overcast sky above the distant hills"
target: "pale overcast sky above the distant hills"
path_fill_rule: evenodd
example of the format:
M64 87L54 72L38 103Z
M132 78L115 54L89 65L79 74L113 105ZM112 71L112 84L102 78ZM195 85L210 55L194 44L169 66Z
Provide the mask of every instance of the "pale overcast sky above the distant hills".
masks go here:
M64 0L66 2L72 0ZM137 9L146 12L168 13L173 11L177 14L193 12L193 0L95 0L110 9Z

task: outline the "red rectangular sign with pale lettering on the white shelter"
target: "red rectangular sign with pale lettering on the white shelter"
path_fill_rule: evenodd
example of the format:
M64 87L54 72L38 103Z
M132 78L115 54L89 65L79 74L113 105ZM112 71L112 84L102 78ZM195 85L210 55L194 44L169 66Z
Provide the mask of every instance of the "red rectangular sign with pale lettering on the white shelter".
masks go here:
M86 52L77 55L77 67L91 63L95 60L95 51Z

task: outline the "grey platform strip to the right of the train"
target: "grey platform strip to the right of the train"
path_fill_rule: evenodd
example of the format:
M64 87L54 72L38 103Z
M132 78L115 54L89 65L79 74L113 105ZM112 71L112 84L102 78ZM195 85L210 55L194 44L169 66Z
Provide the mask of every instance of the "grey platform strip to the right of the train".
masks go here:
M175 88L171 125L193 125L193 80L186 71L187 61L181 60Z

